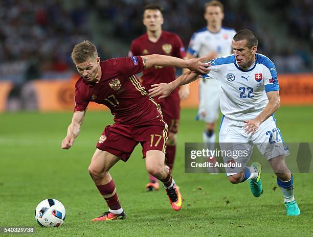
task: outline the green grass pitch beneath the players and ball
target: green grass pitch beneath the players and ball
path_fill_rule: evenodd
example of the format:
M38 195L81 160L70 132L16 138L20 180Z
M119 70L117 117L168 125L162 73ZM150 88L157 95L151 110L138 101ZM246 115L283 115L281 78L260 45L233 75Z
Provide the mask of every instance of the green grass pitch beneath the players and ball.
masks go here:
M88 175L95 145L112 123L109 112L87 112L81 134L70 150L61 141L72 113L1 114L0 226L36 226L34 236L312 236L312 174L294 174L301 216L286 217L274 174L264 174L264 193L254 198L249 183L231 184L224 174L185 174L184 143L201 142L204 124L195 110L181 113L173 177L184 197L180 211L171 209L164 190L145 191L147 173L138 146L127 163L110 173L127 219L92 223L107 210ZM275 114L287 142L313 142L313 107L282 107ZM276 185L277 186L277 185ZM66 208L59 228L41 228L36 205L55 198Z

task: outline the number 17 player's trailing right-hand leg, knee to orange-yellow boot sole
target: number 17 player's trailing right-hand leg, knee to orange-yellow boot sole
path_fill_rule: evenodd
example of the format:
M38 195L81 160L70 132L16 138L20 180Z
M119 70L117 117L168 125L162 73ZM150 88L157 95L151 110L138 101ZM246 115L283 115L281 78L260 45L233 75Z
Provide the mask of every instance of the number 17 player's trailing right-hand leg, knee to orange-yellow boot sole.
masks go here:
M172 179L170 168L164 164L165 154L159 150L150 150L146 153L147 171L158 178L164 185L167 196L174 210L182 208L183 197Z

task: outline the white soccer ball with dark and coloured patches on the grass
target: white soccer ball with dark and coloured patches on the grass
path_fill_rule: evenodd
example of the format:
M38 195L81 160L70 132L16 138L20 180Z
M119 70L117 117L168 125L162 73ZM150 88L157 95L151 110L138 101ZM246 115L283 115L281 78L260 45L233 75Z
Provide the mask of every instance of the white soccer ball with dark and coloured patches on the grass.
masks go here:
M58 227L65 220L65 207L56 199L45 199L36 207L35 219L41 227Z

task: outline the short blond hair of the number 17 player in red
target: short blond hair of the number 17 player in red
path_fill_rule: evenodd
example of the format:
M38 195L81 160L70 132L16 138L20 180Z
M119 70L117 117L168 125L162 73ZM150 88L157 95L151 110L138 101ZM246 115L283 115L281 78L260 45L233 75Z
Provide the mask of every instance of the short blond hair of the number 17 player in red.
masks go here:
M97 60L98 52L95 44L89 40L84 40L76 44L72 51L72 60L75 64L83 63L88 59Z

